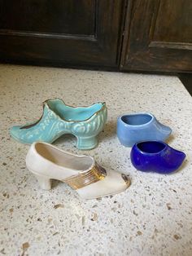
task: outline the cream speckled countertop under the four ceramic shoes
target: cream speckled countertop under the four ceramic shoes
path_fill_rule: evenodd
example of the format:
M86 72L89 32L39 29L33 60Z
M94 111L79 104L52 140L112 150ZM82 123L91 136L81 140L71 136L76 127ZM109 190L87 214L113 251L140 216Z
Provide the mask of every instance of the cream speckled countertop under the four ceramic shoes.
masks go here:
M0 255L192 255L192 98L177 77L0 65ZM25 167L28 145L10 138L15 124L41 117L41 103L106 101L108 119L94 156L107 169L130 174L125 192L82 201L64 183L42 191ZM168 143L187 155L175 174L133 168L130 148L116 137L123 113L151 112L172 127ZM75 138L55 142L68 152Z

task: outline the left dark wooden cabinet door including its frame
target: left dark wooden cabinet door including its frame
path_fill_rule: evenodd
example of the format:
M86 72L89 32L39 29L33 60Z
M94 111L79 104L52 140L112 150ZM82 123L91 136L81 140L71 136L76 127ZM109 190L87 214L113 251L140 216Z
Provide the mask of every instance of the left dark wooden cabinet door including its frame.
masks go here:
M118 65L123 0L0 0L0 59Z

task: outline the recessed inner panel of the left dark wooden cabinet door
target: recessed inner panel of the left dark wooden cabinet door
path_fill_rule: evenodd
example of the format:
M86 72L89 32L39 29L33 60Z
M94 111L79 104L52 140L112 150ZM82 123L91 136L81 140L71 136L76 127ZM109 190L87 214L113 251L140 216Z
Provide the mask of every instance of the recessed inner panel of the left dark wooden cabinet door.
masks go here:
M1 29L94 35L94 0L0 0Z

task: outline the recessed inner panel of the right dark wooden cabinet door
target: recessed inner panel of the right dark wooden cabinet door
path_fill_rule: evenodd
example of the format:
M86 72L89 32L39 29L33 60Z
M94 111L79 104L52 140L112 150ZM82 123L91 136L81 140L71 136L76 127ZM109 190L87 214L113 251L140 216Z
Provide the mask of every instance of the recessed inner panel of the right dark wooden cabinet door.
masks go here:
M192 2L161 0L153 41L192 43Z

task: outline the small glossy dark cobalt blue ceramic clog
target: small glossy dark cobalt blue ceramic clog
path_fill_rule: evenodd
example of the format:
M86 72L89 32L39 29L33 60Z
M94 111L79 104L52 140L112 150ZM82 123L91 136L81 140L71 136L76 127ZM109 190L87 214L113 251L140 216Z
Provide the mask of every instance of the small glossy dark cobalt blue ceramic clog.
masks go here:
M160 141L136 143L131 150L131 162L137 170L169 174L177 170L185 159L185 153Z

